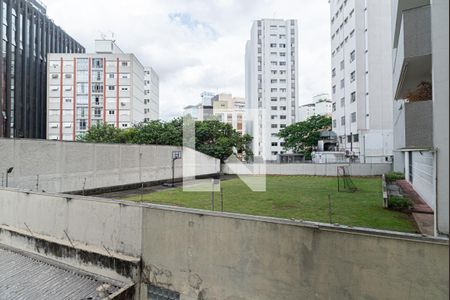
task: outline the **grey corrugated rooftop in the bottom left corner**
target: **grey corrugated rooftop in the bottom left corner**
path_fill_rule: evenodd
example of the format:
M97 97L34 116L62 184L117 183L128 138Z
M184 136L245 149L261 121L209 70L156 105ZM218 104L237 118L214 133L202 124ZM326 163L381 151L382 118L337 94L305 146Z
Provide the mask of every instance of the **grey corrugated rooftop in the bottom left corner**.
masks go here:
M104 299L126 285L1 244L0 270L0 299Z

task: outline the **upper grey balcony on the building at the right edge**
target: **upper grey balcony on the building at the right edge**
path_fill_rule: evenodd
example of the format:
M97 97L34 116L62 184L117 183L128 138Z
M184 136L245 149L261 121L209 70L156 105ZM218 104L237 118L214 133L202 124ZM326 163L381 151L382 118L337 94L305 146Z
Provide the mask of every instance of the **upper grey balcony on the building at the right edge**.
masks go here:
M395 99L404 99L422 81L431 81L431 10L404 10L398 46L394 49Z

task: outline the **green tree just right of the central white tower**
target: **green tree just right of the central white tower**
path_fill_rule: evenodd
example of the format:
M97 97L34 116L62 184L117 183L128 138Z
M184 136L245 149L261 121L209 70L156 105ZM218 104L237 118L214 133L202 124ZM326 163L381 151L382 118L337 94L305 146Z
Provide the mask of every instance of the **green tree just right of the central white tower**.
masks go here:
M285 150L304 153L306 159L311 159L313 147L320 140L320 133L330 129L331 118L327 116L313 116L305 122L292 124L281 130L278 137L284 139Z

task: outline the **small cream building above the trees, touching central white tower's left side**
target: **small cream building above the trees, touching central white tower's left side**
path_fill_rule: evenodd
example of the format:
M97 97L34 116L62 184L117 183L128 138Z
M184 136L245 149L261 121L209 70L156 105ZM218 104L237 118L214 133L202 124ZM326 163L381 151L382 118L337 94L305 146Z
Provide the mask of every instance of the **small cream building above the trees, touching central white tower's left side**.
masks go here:
M245 99L231 94L218 94L212 98L213 114L223 123L230 124L243 135L245 133Z

